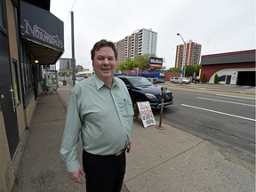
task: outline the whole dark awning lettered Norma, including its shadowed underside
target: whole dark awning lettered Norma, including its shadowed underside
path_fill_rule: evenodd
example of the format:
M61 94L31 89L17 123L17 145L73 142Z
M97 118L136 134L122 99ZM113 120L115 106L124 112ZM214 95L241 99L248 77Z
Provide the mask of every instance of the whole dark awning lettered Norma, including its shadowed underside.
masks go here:
M63 22L35 5L20 1L20 35L41 65L55 64L64 52Z

